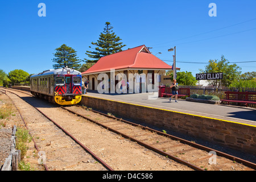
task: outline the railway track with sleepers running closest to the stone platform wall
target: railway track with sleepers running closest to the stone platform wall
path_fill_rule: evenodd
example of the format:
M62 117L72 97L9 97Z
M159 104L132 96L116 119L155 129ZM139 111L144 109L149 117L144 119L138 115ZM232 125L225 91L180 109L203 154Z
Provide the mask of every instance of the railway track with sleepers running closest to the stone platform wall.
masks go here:
M230 166L232 169L236 166L236 170L256 169L256 164L236 156L113 117L111 114L100 113L82 106L61 106L61 108L195 170L229 170Z

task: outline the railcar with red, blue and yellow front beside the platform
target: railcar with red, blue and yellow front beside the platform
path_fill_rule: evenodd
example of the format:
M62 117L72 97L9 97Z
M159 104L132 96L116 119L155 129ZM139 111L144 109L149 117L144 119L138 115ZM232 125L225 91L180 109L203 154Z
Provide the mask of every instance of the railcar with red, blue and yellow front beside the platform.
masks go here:
M30 77L30 92L59 105L76 105L82 98L82 74L67 67L48 69Z

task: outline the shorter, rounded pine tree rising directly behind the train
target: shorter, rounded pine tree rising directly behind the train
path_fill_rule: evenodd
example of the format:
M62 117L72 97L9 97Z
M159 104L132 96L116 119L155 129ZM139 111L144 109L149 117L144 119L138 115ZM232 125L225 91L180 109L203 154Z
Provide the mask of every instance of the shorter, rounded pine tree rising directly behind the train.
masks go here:
M56 53L53 53L55 58L53 58L53 62L56 64L53 64L54 69L58 68L73 68L73 69L79 69L81 65L79 64L81 62L79 57L76 57L77 54L75 49L68 47L67 45L63 44L59 48L56 48Z

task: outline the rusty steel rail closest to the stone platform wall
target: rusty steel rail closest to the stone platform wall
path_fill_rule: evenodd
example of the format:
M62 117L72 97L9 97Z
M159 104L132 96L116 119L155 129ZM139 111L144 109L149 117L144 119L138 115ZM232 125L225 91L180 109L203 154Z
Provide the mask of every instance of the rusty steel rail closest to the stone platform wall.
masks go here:
M101 113L100 111L96 111L96 110L87 108L87 107L85 107L85 106L80 106L80 105L76 105L76 106L89 109L89 110L93 111L94 113L98 113L98 114L104 115L105 117L108 117L108 118L117 119L117 120L119 120L119 121L128 123L128 124L133 125L133 126L139 126L139 127L141 127L143 130L152 131L152 132L157 133L157 134L159 134L159 135L162 135L162 136L164 136L164 137L168 137L168 138L171 138L171 139L179 140L181 143L188 144L189 146L196 147L196 148L199 148L199 149L204 150L204 151L207 151L207 152L215 151L215 152L216 152L216 155L218 155L218 156L222 156L222 157L224 157L224 158L227 158L227 159L236 161L236 162L238 162L238 163L242 163L242 164L244 164L244 165L247 166L247 167L256 169L256 164L255 164L255 163L249 162L249 161L244 160L244 159L241 159L241 158L237 158L236 156L229 155L229 154L226 154L226 153L224 153L224 152L221 152L221 151L218 151L218 150L214 150L213 148L205 147L205 146L203 146L203 145L201 145L201 144L197 144L197 143L194 143L194 142L190 142L190 141L188 141L188 140L185 140L185 139L182 139L182 138L179 138L179 137L175 137L174 135L170 135L170 134L167 134L167 133L163 133L163 132L161 132L161 131L158 131L158 130L150 129L149 127L145 127L145 126L142 126L142 125L138 125L137 123L133 123L133 122L130 122L130 121L126 121L125 119L122 119L122 118L117 118L117 117L114 117L114 116L112 116L112 115L108 115L108 114L105 114L105 113Z

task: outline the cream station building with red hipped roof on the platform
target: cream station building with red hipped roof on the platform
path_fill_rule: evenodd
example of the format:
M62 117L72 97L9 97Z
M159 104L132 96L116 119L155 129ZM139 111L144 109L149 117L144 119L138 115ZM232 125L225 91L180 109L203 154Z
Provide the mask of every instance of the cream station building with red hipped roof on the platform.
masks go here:
M171 82L172 78L166 76L166 71L171 69L171 65L152 55L142 45L101 57L91 68L82 72L82 77L89 80L89 90L115 93L126 88L127 92L120 92L141 93L158 90L158 85Z

